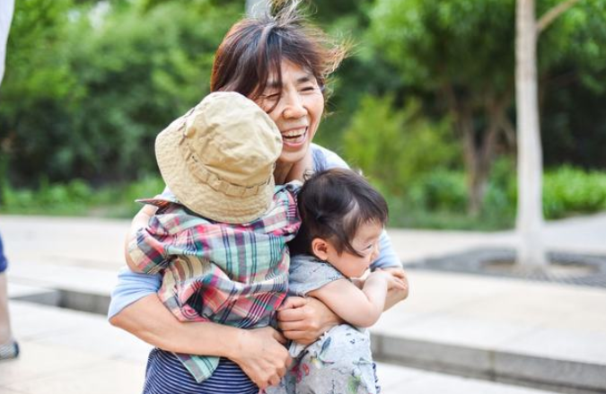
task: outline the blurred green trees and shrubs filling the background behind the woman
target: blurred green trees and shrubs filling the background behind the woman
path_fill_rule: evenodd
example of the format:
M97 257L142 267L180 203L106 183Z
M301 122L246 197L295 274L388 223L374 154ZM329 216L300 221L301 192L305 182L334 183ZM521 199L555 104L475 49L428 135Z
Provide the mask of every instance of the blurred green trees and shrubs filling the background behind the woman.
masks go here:
M560 0L538 0L537 15ZM361 168L391 226L514 226L514 0L314 0L354 42L315 142ZM20 0L0 91L0 213L127 218L163 188L154 138L208 93L242 0ZM606 1L542 32L547 219L606 208Z

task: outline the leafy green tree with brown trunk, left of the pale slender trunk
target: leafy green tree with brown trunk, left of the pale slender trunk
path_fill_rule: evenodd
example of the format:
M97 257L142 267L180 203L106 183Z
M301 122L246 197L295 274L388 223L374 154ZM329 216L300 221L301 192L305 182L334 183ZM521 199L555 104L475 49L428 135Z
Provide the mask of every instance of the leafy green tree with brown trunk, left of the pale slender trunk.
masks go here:
M512 0L378 0L373 40L406 85L450 113L468 173L469 212L478 215L502 136L513 135ZM489 34L486 32L490 31Z

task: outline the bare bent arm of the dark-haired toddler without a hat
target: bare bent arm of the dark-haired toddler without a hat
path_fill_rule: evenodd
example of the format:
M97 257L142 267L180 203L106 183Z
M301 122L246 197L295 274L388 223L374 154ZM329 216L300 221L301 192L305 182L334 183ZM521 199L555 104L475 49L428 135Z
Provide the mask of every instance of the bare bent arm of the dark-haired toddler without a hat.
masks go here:
M324 302L338 317L357 327L371 327L385 306L387 291L396 286L393 276L381 270L374 271L362 289L347 279L339 279L314 290L308 295Z

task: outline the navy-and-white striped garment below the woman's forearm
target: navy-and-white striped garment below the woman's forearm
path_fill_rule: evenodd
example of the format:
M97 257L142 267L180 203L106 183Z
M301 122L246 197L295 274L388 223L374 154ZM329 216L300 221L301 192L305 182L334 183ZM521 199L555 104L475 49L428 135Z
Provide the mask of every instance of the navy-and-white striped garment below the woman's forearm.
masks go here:
M258 394L238 364L222 358L213 375L198 383L170 352L154 349L147 359L144 394Z

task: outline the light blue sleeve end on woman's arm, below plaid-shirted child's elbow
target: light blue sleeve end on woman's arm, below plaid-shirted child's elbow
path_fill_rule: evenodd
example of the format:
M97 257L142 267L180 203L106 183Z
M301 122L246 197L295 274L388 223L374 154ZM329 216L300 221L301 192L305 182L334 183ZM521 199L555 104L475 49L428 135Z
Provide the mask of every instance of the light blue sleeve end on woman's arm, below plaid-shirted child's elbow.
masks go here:
M158 293L161 284L162 276L159 274L137 274L128 267L121 268L118 273L118 285L111 292L108 319L146 295Z

